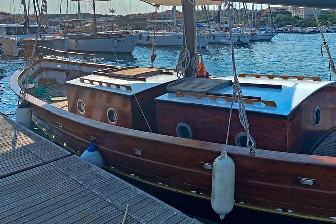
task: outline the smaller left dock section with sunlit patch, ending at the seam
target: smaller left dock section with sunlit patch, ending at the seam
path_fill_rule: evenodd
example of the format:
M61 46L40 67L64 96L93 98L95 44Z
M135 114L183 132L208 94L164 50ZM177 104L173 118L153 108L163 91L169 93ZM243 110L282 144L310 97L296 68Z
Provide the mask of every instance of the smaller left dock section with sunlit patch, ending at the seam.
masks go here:
M0 127L0 178L71 155L5 116Z

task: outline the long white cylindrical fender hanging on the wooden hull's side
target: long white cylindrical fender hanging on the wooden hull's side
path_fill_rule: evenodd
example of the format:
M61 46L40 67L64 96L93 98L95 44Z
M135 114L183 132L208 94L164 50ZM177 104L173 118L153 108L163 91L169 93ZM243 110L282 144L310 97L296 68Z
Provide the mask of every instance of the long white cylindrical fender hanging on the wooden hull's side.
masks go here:
M234 207L235 162L223 151L213 162L212 168L212 209L221 219Z

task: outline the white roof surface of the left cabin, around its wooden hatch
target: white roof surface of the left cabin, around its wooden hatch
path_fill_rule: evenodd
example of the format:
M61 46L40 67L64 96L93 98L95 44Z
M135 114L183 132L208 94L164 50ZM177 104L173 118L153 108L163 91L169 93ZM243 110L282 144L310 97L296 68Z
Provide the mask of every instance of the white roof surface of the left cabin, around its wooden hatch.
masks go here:
M94 80L94 82L90 83L89 81L83 81L83 80L88 80L88 79ZM133 93L137 94L139 92L148 90L150 88L161 85L163 83L169 83L175 80L177 80L177 76L171 75L171 74L159 74L159 75L148 76L146 77L146 81L132 79L132 78L126 79L123 77L119 78L119 77L110 77L110 76L105 76L105 75L92 74L92 75L87 75L81 78L76 78L76 79L67 81L65 83L68 85L87 87L91 89L131 96L133 95ZM105 83L105 84L100 85L97 82ZM106 86L106 84L111 84L111 86L108 87ZM119 85L122 87L119 88L118 87ZM126 88L123 86L126 86ZM132 90L128 90L127 89L128 86L130 86Z

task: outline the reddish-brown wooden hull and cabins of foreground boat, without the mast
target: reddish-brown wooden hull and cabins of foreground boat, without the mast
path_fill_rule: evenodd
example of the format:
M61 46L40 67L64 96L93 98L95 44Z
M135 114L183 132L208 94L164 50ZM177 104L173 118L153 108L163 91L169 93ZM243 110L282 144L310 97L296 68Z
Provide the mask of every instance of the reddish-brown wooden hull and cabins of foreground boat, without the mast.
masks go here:
M55 78L58 82L54 85L56 95L61 92L67 96L67 99L56 98L57 101L27 96L34 121L48 130L52 138L80 154L94 137L105 166L112 171L168 191L210 200L209 168L224 147L220 143L226 135L230 104L213 97L229 100L225 89L229 90L230 86L218 90L224 96L183 93L182 97L177 93L164 94L166 86L177 79L164 70L141 69L152 76L146 78L143 73L133 79L130 76L128 84L125 78L108 75L111 70L117 74L121 71L116 66L45 58L37 61L33 68L35 81ZM124 72L128 70L134 72L134 69ZM10 87L18 95L24 75L25 71L17 71L11 77ZM67 79L71 80L65 82ZM241 79L258 91L274 92L277 100L268 100L271 97L266 96L262 96L263 100L256 99L259 95L252 94L258 91L247 93L246 103L252 103L250 108L255 107L251 110L247 107L251 134L261 148L256 149L255 155L250 155L247 148L234 146L235 136L242 128L237 116L233 117L229 139L232 146L228 153L236 163L236 204L268 212L289 209L295 213L288 215L331 220L336 213L332 208L336 201L333 184L336 157L308 153L336 127L336 83L274 79L271 84L265 84L270 80ZM230 78L196 80L231 83ZM248 88L251 87L246 86ZM302 90L306 92L296 92ZM292 94L286 96L289 92ZM278 98L276 93L283 94L283 98ZM149 132L134 94L152 131L156 132L157 127L157 133ZM321 102L321 98L325 101ZM314 115L316 106L320 109L319 118ZM113 111L111 115L109 111ZM189 112L193 116L185 116ZM314 124L314 120L320 122ZM176 137L179 123L190 126L191 139ZM304 181L309 184L312 181L312 185ZM240 201L245 204L239 204Z

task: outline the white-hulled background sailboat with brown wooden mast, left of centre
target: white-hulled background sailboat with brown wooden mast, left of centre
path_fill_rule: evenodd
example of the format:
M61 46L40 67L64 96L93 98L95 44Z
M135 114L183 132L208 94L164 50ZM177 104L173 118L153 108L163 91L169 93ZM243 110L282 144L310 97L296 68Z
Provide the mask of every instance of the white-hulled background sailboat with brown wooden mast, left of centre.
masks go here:
M74 0L77 1L77 0ZM105 0L80 0L92 2L93 22L83 29L76 28L79 32L67 35L68 49L81 52L113 52L113 53L132 53L140 34L133 32L98 32L95 2ZM92 29L92 32L85 32L85 28ZM84 31L83 31L84 30Z

